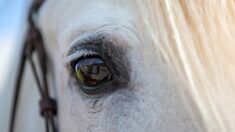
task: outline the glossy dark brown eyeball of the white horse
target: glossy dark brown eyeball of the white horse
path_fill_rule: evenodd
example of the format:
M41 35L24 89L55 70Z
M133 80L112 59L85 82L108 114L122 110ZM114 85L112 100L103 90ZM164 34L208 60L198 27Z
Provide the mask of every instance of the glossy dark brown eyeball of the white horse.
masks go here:
M98 58L86 58L75 65L76 77L81 84L94 87L111 79L112 74L105 62Z

